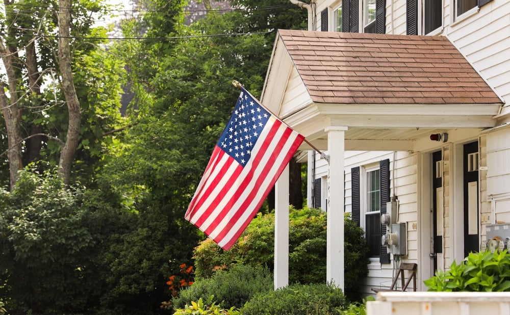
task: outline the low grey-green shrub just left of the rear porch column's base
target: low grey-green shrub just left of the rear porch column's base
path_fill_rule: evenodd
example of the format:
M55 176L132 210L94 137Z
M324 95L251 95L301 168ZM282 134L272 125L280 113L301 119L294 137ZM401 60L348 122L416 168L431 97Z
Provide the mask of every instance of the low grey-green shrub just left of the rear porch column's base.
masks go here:
M196 280L192 286L172 300L174 309L183 308L200 298L221 302L226 308L241 307L259 292L272 290L272 274L262 267L236 265L230 270L216 272L211 278Z

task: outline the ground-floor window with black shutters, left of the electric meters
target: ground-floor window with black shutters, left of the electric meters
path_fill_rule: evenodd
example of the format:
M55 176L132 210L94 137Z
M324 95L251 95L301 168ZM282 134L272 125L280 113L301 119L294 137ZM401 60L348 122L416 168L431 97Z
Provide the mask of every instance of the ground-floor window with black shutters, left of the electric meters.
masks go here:
M386 213L390 201L390 160L379 165L351 169L352 220L365 229L370 257L378 257L380 263L389 263L386 246L381 245L381 235L386 226L380 224L381 213Z

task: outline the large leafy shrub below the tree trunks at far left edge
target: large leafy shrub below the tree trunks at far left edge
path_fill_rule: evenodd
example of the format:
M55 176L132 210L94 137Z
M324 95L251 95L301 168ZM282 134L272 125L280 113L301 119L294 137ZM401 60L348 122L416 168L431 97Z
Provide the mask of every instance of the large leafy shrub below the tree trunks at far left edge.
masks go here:
M85 253L94 245L80 207L83 192L65 190L56 172L19 176L12 193L0 191L0 282L13 300L9 307L80 309L87 293Z

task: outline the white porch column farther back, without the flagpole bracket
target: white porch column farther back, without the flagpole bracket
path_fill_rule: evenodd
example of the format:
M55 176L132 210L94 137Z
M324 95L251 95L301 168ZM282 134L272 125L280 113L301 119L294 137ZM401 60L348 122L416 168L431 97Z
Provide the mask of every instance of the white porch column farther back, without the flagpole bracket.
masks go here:
M289 165L274 192L274 290L289 284Z

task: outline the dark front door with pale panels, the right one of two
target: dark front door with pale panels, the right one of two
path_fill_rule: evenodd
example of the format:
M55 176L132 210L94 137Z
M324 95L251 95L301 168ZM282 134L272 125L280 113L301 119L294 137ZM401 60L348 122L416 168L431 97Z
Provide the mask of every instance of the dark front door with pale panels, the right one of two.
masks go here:
M464 145L464 256L479 250L478 142Z

